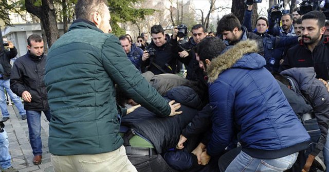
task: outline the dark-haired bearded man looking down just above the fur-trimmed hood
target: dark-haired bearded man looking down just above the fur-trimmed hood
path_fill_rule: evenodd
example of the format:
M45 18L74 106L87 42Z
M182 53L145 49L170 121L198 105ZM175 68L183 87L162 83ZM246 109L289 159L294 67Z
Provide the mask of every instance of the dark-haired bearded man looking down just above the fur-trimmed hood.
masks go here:
M239 19L233 14L224 15L217 24L217 33L223 36L226 46L233 46L237 42L246 39L257 41L260 54L263 54L263 39L252 32L248 32L247 28L241 26Z

